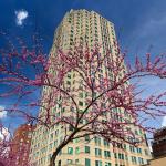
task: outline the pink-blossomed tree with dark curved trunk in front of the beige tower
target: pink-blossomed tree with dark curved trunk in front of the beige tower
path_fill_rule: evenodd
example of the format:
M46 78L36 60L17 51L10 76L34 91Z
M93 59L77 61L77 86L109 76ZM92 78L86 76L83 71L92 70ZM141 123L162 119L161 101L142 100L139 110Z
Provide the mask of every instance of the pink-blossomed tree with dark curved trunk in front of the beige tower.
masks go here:
M55 48L46 56L41 49L28 49L18 41L21 49L11 45L1 50L0 84L6 89L0 97L14 97L13 106L6 108L8 115L46 128L63 126L65 135L54 149L50 166L75 138L98 135L114 146L118 141L134 145L144 142L128 126L152 131L145 125L146 120L165 115L166 92L143 98L137 84L131 84L134 79L151 75L165 79L164 55L152 60L147 53L143 61L136 58L129 65L124 63L126 53L120 53L116 42L116 54L107 50L103 55L101 46L77 44L72 51ZM41 95L34 98L37 93ZM32 107L40 107L39 115Z

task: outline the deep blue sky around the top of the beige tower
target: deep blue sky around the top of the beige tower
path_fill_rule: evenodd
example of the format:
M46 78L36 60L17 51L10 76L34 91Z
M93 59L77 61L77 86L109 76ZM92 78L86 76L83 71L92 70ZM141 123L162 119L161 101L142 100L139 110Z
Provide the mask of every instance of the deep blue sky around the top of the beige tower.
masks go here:
M154 55L166 52L165 8L165 0L0 0L0 30L10 38L15 35L24 40L38 31L44 51L49 53L54 30L66 11L94 10L115 24L118 41L133 60L135 54L142 58L149 48ZM23 14L19 15L19 12ZM144 80L143 84L146 87L152 85L147 93L166 86L164 81L154 79ZM6 106L8 102L0 101L0 105ZM157 127L160 124L156 122Z

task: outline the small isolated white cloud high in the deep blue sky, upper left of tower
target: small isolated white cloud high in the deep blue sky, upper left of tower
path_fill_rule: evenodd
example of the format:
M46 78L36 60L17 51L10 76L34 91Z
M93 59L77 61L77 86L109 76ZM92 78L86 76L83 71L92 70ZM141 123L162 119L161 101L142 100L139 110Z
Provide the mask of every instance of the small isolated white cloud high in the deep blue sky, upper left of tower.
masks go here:
M28 18L29 13L28 11L25 10L19 10L19 11L15 11L15 15L17 15L17 24L18 25L22 25L23 24L23 21Z

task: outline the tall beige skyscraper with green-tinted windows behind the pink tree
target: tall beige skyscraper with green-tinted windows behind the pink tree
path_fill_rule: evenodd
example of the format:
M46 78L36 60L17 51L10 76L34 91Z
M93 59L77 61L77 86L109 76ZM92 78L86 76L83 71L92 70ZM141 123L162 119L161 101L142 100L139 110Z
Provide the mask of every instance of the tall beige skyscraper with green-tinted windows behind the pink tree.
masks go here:
M58 27L50 56L55 55L55 49L63 51L73 50L75 43L86 43L90 48L101 45L101 53L106 54L107 49L112 49L113 58L118 54L118 48L115 44L116 37L114 24L94 11L71 10L65 14ZM103 74L107 72L105 66L101 66ZM53 72L53 71L52 71ZM100 75L102 77L102 74ZM74 81L79 81L75 73L70 73L66 77L66 84L76 86ZM43 90L50 92L50 90ZM81 93L77 102L85 107L85 90ZM61 98L59 98L61 100ZM61 113L70 110L68 106L58 105L54 113ZM118 110L120 111L120 110ZM68 112L70 115L70 112ZM72 110L71 110L72 113ZM39 115L44 115L41 110ZM145 139L145 133L138 127L133 128L135 135ZM42 125L37 125L31 144L30 163L33 166L48 166L54 148L63 138L63 126L55 125L46 129ZM120 147L113 148L104 138L95 136L74 139L68 144L56 158L58 166L134 166L143 165L151 158L151 153L146 142L139 147L122 143Z

